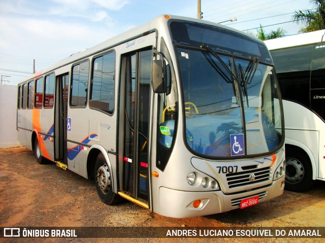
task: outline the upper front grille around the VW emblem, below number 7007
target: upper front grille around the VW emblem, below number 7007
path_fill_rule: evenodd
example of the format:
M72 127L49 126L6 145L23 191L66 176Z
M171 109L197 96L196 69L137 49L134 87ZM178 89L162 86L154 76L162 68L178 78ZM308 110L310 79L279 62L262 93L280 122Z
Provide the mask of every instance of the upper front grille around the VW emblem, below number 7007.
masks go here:
M254 174L254 181L250 181L249 177ZM249 169L238 173L230 173L226 175L229 188L254 185L261 182L271 180L271 167L260 169Z

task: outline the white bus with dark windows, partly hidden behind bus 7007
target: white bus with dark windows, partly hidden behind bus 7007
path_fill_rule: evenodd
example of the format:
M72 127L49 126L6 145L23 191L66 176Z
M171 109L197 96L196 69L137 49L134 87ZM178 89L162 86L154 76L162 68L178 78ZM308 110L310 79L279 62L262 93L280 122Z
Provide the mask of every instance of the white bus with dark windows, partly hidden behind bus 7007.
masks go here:
M283 98L285 188L325 181L325 30L265 41Z

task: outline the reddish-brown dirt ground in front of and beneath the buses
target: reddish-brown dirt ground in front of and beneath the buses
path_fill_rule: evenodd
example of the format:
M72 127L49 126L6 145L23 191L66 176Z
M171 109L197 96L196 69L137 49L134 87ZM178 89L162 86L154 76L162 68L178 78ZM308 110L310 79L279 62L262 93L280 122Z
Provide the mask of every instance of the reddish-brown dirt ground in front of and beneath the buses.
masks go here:
M173 219L128 201L102 203L94 182L25 148L0 149L0 227L325 227L325 182L244 210ZM322 242L319 238L19 238L0 242Z

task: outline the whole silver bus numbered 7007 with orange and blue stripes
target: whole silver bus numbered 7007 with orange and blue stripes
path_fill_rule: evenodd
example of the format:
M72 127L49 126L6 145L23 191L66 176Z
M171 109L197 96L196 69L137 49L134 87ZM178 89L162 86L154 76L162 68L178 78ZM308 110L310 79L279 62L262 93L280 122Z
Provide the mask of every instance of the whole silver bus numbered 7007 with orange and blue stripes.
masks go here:
M282 114L263 42L169 15L18 85L19 140L39 163L94 179L107 204L175 218L281 195Z

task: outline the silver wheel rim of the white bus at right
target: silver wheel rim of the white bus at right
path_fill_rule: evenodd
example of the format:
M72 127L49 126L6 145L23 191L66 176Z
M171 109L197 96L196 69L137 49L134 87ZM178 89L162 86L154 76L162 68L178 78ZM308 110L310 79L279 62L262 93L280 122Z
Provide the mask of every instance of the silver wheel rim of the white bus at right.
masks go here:
M285 161L285 180L291 184L301 182L305 175L302 163L296 158L288 158Z

